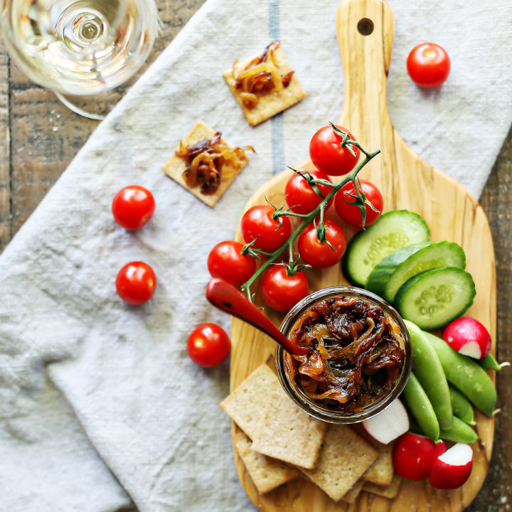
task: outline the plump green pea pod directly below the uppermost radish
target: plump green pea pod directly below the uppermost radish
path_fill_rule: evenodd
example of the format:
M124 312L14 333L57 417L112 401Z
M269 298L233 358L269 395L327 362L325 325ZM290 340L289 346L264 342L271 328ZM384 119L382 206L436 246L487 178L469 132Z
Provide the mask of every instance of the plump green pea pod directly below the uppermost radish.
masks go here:
M424 332L434 347L449 383L462 392L481 412L492 417L496 405L496 389L486 371L471 358L450 348L441 338Z

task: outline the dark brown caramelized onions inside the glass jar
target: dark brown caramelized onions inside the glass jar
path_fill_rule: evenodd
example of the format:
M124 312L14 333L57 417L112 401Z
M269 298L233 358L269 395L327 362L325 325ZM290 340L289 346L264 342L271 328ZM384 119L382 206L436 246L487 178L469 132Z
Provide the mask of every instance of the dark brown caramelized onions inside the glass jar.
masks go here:
M289 338L313 348L309 356L285 354L292 382L313 400L353 414L390 392L405 351L400 328L375 304L335 297L297 319Z

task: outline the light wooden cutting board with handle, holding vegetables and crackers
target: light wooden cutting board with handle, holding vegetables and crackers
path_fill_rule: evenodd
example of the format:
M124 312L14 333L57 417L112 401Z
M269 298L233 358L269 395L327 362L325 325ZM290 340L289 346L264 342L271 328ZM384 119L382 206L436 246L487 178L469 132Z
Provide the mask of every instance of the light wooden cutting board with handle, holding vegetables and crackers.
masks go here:
M393 128L386 105L388 69L394 37L394 18L390 6L381 0L345 0L336 14L339 50L343 60L345 91L340 124L351 130L364 148L380 148L382 154L370 161L360 176L373 181L383 193L386 211L407 208L419 213L431 230L432 240L457 242L466 252L466 270L476 284L476 299L468 311L479 319L496 339L496 277L494 249L489 224L479 203L459 183L434 169L415 154ZM363 35L363 33L369 33ZM311 134L312 135L312 134ZM429 134L435 137L436 134ZM307 149L304 148L304 153ZM296 169L312 169L305 160ZM265 203L281 204L284 186L291 171L282 171L257 190L245 209ZM332 208L334 210L334 208ZM336 213L327 218L336 220ZM341 223L343 225L343 223ZM346 227L346 226L344 226ZM346 227L348 237L353 230ZM237 234L241 240L240 233ZM341 266L308 271L311 292L346 284ZM256 302L263 304L258 290ZM267 314L279 325L282 315L266 307ZM236 388L252 370L273 354L274 343L251 326L233 319L231 324L230 385ZM493 346L496 353L496 348ZM494 372L492 377L494 378ZM426 481L403 480L398 496L389 500L361 493L351 511L462 511L476 496L486 476L494 438L494 420L476 412L480 440L474 447L474 465L470 479L459 489L432 489ZM238 427L233 425L233 432ZM235 464L242 486L258 509L265 512L346 511L343 501L334 503L316 486L297 479L260 495L235 450Z

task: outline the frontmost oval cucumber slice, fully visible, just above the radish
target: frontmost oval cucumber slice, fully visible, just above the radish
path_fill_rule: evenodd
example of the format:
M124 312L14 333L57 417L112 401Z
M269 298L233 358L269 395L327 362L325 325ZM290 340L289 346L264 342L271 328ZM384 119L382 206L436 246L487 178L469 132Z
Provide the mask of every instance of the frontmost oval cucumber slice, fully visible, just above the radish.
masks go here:
M402 284L395 305L421 329L437 329L464 314L476 294L471 274L457 267L425 270Z

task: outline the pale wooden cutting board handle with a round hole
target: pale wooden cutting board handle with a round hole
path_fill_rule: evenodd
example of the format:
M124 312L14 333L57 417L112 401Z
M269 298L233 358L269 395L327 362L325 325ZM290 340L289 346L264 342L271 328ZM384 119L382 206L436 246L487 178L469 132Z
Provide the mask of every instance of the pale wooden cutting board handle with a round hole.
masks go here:
M393 11L383 0L344 0L336 14L336 33L343 62L342 122L355 117L363 117L357 122L361 127L367 122L388 122L386 91L395 36Z

